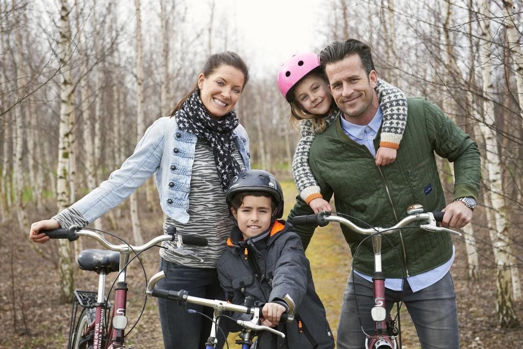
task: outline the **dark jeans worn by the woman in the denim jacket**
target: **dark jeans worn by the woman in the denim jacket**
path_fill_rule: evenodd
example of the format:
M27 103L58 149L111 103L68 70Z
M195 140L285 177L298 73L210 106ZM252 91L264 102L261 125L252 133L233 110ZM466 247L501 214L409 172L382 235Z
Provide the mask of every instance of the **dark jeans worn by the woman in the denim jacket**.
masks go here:
M160 258L160 271L164 271L165 278L158 282L158 287L175 291L184 289L190 296L200 298L225 299L215 268L190 268ZM158 298L165 348L205 347L211 332L211 320L199 314L189 314L187 308L203 312L212 319L212 308L190 303L187 303L186 307L174 301ZM220 322L223 323L223 319L220 319ZM227 335L226 326L221 327ZM217 331L218 347L221 348L225 339L220 330Z

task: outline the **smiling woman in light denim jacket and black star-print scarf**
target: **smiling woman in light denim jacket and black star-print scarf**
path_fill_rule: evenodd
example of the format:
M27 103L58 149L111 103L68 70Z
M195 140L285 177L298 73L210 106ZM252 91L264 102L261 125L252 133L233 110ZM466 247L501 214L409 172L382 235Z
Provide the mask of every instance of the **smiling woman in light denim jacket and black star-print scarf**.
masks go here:
M131 195L155 173L160 205L166 214L164 231L207 238L208 247L186 246L203 263L160 250L160 270L166 278L159 286L185 289L191 296L224 299L215 269L226 249L233 226L224 190L235 174L249 169L248 138L238 123L234 106L249 78L245 62L233 52L211 55L198 75L195 88L174 108L170 117L156 120L134 153L91 193L50 220L31 225L30 239L49 240L40 230L86 226ZM169 247L171 242L164 242ZM158 299L166 348L202 347L210 321L188 314L185 307ZM194 309L208 313L212 309ZM220 346L224 338L219 334Z

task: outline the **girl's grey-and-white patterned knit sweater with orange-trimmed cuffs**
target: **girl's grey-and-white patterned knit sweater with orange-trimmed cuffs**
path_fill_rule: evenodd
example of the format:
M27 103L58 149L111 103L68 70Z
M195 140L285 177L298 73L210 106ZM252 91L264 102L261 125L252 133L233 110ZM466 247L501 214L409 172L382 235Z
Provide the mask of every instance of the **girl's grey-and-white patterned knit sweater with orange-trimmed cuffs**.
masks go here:
M376 93L383 113L381 126L380 147L397 149L405 131L407 122L407 99L405 94L397 87L389 85L383 80L378 80ZM337 119L340 111L336 109L325 116L326 127ZM309 167L309 152L312 141L318 132L313 130L310 119L301 122L301 140L296 147L292 160L292 173L301 198L309 203L312 199L322 197L314 175Z

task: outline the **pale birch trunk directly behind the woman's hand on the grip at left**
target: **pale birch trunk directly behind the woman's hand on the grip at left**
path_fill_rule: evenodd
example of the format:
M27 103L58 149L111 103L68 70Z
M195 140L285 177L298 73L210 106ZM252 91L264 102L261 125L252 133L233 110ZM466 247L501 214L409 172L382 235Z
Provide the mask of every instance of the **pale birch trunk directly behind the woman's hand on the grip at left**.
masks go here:
M58 211L69 207L69 154L70 154L70 122L74 113L74 84L71 68L71 27L69 21L70 8L67 0L61 0L60 19L58 21L60 39L59 62L61 70L60 82L60 129L58 155L58 181L56 183ZM62 301L67 302L73 295L73 265L71 263L71 244L69 241L59 240L60 258L60 293Z

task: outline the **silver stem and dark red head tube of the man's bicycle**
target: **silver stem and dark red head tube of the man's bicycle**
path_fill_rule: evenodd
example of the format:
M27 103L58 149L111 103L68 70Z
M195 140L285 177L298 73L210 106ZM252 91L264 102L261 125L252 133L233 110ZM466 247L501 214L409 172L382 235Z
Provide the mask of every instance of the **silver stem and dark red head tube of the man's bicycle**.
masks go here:
M370 313L374 320L374 335L367 335L366 349L396 349L394 336L389 336L386 323L385 307L385 277L381 267L381 234L373 235L372 247L374 249L374 275L372 284L374 290L374 307Z

